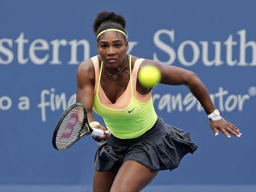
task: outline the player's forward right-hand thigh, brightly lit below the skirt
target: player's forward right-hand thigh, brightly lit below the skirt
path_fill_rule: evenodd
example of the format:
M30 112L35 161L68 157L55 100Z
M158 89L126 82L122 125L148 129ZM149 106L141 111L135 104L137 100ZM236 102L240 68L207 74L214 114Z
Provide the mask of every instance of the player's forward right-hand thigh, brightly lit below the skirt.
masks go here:
M158 174L137 161L125 161L118 170L111 192L141 191Z

